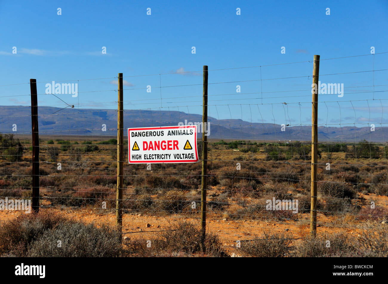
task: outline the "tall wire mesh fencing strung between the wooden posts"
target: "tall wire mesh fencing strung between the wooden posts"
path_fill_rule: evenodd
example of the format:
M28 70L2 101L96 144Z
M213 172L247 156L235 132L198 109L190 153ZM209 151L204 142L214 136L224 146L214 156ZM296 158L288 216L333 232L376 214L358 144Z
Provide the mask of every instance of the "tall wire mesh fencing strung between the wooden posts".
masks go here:
M349 70L347 60L371 67ZM356 234L367 220L387 219L386 60L387 53L320 59L318 234ZM312 61L290 64L292 74L284 64L209 70L207 127L203 71L124 76L124 133L197 125L201 157L207 128L206 230L227 244L268 231L290 239L310 232ZM176 76L186 83L175 84ZM117 89L93 90L93 80L117 77L37 83L38 104L57 98L38 106L40 207L114 224ZM27 84L0 86L0 97L23 104ZM0 132L0 220L7 220L31 200L31 108L2 106ZM124 139L123 234L151 236L175 221L199 225L201 163L128 164Z

